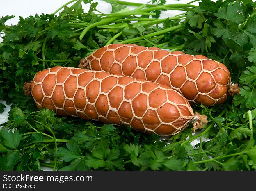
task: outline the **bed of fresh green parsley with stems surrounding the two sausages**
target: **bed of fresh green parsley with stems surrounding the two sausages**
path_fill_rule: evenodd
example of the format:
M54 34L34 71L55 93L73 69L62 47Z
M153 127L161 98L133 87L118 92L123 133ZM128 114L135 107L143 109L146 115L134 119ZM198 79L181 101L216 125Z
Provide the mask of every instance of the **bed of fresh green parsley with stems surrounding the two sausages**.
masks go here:
M14 15L1 17L0 99L11 109L0 124L0 170L255 170L256 2L105 1L111 13L97 10L97 2L72 0L53 14L20 17L13 26L5 22ZM82 3L90 9L83 10ZM159 18L166 10L183 13ZM194 134L189 126L161 140L127 126L55 116L24 95L24 82L38 71L77 67L113 43L205 55L228 67L240 94L218 106L193 105L208 117L204 130ZM0 113L5 107L0 103Z

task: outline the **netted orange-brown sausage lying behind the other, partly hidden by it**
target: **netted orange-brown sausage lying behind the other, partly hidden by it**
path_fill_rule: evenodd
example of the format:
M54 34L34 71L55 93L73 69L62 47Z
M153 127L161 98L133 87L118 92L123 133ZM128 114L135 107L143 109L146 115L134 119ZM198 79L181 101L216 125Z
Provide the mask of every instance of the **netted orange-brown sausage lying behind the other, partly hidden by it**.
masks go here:
M79 67L168 85L191 104L205 106L223 103L231 82L227 67L205 56L135 44L102 47L82 60Z

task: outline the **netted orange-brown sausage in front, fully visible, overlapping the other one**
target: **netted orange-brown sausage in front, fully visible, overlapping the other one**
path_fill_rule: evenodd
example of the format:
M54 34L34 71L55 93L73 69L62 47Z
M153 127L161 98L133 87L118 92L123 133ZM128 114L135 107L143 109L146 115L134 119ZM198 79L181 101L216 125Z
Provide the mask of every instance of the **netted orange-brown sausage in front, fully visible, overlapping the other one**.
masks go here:
M176 90L107 72L56 66L38 72L29 87L38 109L159 136L179 133L196 117Z

